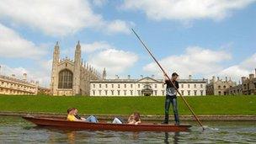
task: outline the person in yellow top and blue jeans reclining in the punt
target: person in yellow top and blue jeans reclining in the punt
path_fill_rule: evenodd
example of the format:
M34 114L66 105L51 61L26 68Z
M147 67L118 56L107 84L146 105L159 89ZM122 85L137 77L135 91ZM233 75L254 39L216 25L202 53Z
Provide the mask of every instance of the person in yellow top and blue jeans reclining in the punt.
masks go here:
M93 122L97 123L99 122L97 118L93 115L90 115L87 119L80 117L77 115L78 110L77 108L69 108L67 109L67 120L69 121L86 121L86 122Z

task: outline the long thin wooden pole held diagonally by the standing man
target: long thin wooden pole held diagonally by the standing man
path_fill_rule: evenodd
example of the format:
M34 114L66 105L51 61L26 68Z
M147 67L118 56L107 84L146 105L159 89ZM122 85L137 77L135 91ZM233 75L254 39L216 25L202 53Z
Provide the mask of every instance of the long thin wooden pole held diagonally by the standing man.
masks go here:
M160 63L157 61L157 59L155 58L155 56L153 56L152 52L147 48L147 46L144 44L144 42L141 40L140 36L136 34L136 32L134 31L134 29L131 29L132 32L136 35L136 37L138 38L138 40L141 41L141 44L145 47L145 49L147 50L147 52L149 53L150 56L152 56L153 60L157 62L158 67L160 67L160 69L163 71L164 76L166 76L168 78L168 80L173 84L173 87L176 89L177 93L179 93L178 88L176 88L176 86L174 85L173 81L171 81L171 78L168 77L168 74L163 70L163 67L160 65ZM202 125L202 123L200 122L200 120L198 119L198 117L195 115L195 112L193 111L193 109L190 107L189 103L187 102L186 99L184 99L184 96L179 93L180 97L183 99L184 103L187 105L187 107L189 108L190 112L194 115L195 120L198 122L198 124L203 128L204 126Z

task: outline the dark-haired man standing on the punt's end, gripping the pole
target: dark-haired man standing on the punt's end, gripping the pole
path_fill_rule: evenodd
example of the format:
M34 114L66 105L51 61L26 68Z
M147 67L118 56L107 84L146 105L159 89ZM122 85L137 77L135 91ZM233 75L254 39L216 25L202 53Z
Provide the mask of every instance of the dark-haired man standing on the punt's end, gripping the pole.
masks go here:
M171 81L168 80L168 77L164 73L163 75L163 83L165 83L166 86L166 98L165 98L165 107L164 107L164 113L165 113L165 119L163 121L163 124L168 124L169 120L169 109L170 104L173 105L173 114L175 119L175 125L179 125L179 115L178 115L178 108L177 108L177 92L174 86L179 89L179 83L176 81L179 75L176 72L173 72ZM173 86L174 84L174 86Z

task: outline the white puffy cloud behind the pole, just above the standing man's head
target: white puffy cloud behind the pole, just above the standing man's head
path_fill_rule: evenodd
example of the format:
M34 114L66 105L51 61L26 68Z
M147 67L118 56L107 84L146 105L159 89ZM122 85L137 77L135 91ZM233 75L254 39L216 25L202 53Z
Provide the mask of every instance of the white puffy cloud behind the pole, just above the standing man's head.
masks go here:
M227 51L212 51L199 46L190 46L186 48L184 54L168 56L159 62L168 72L178 72L181 78L186 78L189 74L207 76L211 73L220 72L223 69L221 62L231 58L231 54ZM147 64L143 70L163 76L155 62Z

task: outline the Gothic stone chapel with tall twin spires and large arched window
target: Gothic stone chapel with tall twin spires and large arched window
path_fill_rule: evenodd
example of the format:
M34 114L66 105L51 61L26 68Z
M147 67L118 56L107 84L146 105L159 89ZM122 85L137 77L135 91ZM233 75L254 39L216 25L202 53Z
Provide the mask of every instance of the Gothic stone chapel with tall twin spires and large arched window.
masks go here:
M99 72L81 60L81 45L76 45L74 61L60 59L60 46L56 42L52 69L51 95L89 95L90 80L99 79Z

